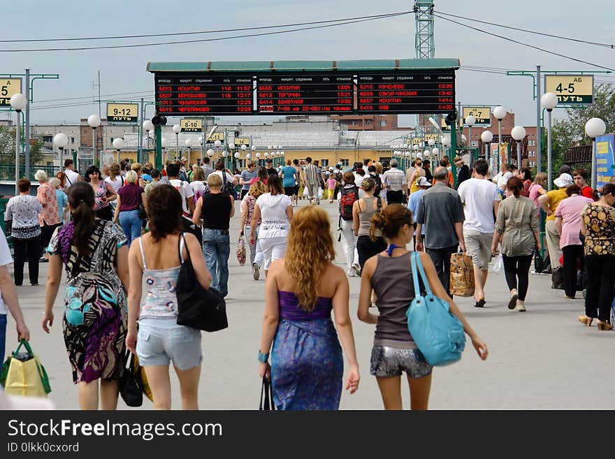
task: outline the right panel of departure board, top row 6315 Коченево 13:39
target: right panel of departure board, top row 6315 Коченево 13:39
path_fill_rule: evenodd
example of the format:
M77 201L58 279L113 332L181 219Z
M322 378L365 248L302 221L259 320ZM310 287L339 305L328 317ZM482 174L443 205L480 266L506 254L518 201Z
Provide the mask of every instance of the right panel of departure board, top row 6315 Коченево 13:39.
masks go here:
M455 108L455 74L389 72L358 75L358 113L444 113Z

